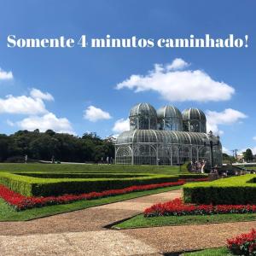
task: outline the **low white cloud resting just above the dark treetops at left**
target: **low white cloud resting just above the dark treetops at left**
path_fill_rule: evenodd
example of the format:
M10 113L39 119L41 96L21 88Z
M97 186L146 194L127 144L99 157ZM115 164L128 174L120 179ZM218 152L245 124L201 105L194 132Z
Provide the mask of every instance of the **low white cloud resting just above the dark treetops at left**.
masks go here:
M66 118L57 118L54 113L45 113L43 116L30 116L17 122L16 125L28 131L34 131L36 129L46 131L51 129L56 132L74 134L69 120Z

